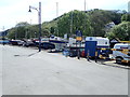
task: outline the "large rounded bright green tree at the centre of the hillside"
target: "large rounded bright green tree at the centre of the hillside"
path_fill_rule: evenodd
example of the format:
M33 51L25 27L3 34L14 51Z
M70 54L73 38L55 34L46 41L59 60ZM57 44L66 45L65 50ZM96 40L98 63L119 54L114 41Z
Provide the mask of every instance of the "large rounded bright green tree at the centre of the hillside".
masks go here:
M57 29L61 37L64 33L67 33L69 37L76 33L76 30L80 29L83 36L89 34L90 24L89 16L81 11L72 11L67 14L64 14L57 20Z

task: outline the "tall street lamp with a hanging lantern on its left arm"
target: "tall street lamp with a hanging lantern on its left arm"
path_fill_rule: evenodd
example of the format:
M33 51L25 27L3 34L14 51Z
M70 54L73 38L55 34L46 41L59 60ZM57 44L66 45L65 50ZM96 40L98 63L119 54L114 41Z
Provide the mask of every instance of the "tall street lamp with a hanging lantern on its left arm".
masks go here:
M31 9L38 11L38 18L39 18L39 22L38 22L39 23L39 52L40 52L41 51L41 2L39 2L39 9L29 5L29 11L28 12L31 12Z

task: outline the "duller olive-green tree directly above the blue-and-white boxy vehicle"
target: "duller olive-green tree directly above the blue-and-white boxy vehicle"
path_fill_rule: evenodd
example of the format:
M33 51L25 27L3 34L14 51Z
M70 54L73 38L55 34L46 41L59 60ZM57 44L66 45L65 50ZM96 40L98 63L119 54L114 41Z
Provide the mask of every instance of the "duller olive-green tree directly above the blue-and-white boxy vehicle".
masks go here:
M101 10L94 10L89 12L89 16L92 27L91 36L104 37L104 25L110 22L109 18L106 17L106 13Z

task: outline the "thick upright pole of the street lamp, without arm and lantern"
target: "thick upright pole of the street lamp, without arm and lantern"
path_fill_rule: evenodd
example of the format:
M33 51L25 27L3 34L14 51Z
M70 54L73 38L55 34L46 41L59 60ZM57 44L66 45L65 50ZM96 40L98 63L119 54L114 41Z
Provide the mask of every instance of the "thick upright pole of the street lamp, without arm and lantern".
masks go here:
M39 52L41 51L41 2L39 2Z

